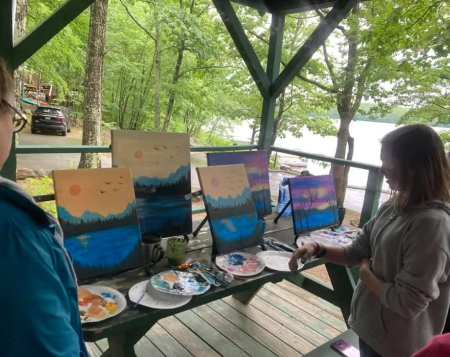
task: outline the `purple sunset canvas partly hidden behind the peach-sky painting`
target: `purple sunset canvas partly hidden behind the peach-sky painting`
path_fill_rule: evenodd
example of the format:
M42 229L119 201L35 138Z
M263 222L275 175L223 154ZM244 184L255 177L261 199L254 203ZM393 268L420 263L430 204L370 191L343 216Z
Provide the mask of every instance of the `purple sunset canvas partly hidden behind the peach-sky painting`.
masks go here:
M267 151L213 152L207 154L207 159L208 166L243 163L257 216L264 217L272 213Z

